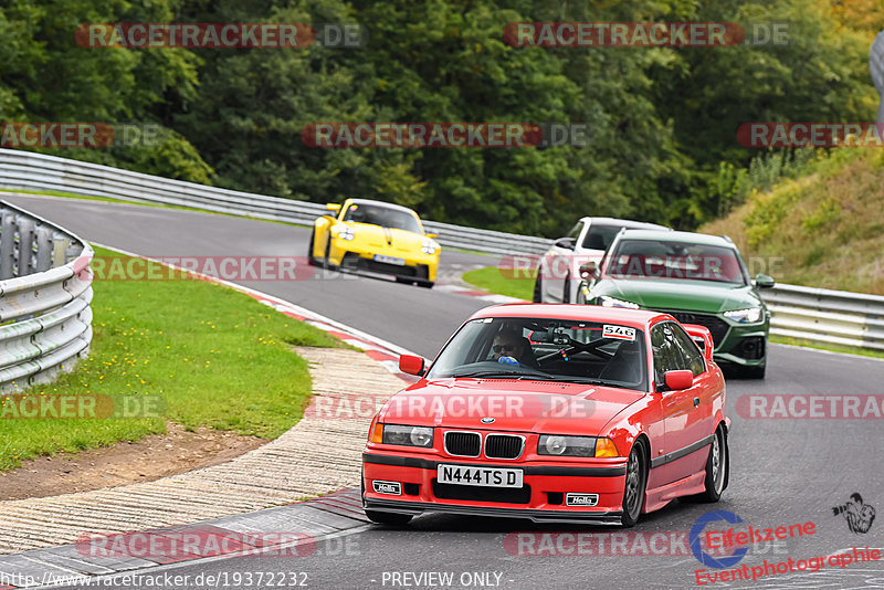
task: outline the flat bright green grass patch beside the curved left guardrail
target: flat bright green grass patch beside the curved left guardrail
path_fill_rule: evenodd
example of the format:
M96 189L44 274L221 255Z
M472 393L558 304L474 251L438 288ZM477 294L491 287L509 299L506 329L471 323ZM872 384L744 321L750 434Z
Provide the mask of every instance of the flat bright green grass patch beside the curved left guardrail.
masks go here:
M96 247L102 256L122 256ZM0 407L0 471L24 459L76 452L166 431L211 426L275 438L302 417L307 364L292 346L346 346L232 288L198 280L93 285L92 349L71 373L28 393L158 397L162 415L10 419Z

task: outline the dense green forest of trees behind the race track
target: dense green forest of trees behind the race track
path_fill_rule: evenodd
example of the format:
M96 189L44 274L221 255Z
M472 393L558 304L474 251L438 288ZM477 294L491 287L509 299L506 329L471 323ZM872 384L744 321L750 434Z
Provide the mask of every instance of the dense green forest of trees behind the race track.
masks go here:
M151 145L40 149L316 202L377 198L539 235L579 215L682 229L746 192L746 122L874 120L880 0L0 0L0 122L150 124ZM509 23L785 23L788 43L516 46ZM362 46L77 43L83 23L350 23ZM582 146L309 147L316 122L585 124ZM789 155L778 155L787 161ZM769 168L769 167L768 167ZM785 168L785 167L783 167ZM749 181L750 182L750 181Z

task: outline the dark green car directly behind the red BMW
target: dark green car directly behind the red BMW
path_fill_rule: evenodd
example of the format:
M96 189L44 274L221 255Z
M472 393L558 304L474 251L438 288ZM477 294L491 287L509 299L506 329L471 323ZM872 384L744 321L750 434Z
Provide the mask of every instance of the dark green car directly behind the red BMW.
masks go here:
M753 282L729 238L622 230L599 265L581 266L581 276L577 303L653 309L705 326L716 362L765 377L770 313L757 289L774 280L759 274Z

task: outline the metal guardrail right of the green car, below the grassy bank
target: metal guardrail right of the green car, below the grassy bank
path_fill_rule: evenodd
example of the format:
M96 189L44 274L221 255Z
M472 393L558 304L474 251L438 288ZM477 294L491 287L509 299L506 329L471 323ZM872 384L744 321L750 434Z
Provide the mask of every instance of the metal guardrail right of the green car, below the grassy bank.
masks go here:
M884 351L884 297L797 285L759 292L770 308L770 334Z

